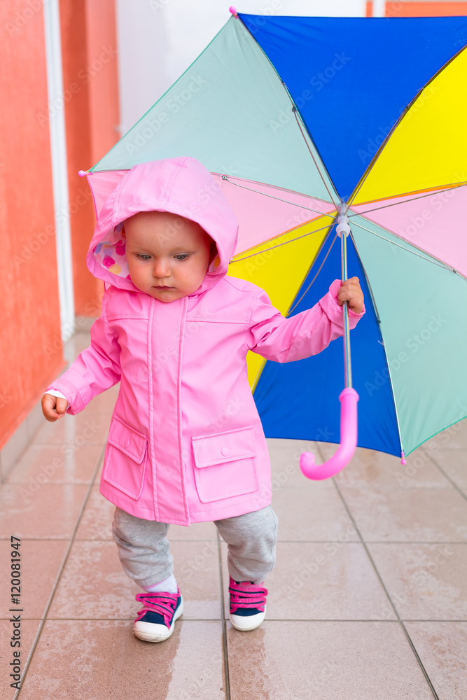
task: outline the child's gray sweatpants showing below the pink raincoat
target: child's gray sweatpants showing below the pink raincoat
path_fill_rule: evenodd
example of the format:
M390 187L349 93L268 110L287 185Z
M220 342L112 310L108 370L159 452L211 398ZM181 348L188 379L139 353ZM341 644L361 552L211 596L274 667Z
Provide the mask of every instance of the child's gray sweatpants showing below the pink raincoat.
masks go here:
M252 513L216 520L228 545L228 569L235 581L260 584L276 560L277 516L270 505ZM123 570L140 586L153 586L174 570L167 523L143 520L116 508L113 539Z

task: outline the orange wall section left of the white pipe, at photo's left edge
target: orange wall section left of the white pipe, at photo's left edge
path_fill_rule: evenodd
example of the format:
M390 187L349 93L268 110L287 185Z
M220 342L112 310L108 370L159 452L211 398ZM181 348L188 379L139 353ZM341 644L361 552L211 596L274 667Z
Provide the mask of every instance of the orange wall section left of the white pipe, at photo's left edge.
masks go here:
M42 3L0 3L0 447L63 365Z

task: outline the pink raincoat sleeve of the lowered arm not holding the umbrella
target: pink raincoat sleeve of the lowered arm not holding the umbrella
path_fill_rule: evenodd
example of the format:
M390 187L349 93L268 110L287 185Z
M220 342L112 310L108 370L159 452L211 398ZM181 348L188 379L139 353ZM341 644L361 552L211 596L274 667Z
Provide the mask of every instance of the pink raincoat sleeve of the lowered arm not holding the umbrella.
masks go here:
M69 402L67 413L74 415L82 411L95 395L118 381L120 345L106 320L104 295L102 316L92 324L90 346L48 388L63 393Z

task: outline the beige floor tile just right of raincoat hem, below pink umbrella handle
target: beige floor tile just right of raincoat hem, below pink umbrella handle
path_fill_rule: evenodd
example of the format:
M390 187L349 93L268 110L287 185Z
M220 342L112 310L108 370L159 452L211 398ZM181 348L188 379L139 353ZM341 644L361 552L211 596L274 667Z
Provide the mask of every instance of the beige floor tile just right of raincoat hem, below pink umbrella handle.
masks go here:
M272 507L279 518L279 540L360 541L339 493L321 482L303 489L279 489L272 496Z

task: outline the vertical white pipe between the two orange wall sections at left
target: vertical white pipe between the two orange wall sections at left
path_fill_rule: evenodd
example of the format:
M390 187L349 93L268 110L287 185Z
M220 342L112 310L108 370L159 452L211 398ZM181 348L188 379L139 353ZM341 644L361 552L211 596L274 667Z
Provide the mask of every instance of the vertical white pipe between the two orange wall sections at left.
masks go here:
M55 243L57 246L58 292L62 340L74 333L75 312L71 229L68 200L67 138L65 133L62 48L58 0L43 3L46 37L47 89L49 104L50 152L52 156Z

